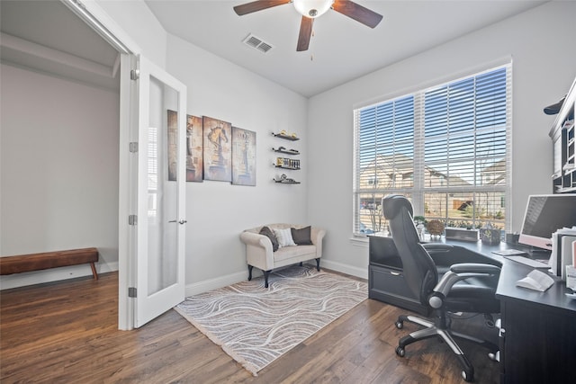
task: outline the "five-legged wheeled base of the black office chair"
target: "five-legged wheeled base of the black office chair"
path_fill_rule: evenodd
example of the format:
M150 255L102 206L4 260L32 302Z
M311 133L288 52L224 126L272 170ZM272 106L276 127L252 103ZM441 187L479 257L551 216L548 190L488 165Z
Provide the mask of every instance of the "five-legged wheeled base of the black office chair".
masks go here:
M486 348L491 349L496 353L498 351L498 347L495 344L487 342L485 340L473 337L471 335L464 335L459 332L454 332L446 327L446 317L437 317L437 322L432 323L431 321L425 320L420 317L414 316L401 316L398 317L395 325L398 329L401 329L404 326L404 321L410 321L410 323L418 324L419 326L424 326L423 329L419 329L418 331L412 332L410 335L404 336L398 342L398 346L396 347L396 354L400 357L404 357L406 355L406 345L415 343L419 340L428 339L431 337L439 337L440 340L446 343L448 347L455 353L458 361L463 366L464 370L462 371L462 377L465 381L473 381L474 380L474 368L472 363L468 360L460 346L456 344L455 337L464 339L475 344L480 344Z

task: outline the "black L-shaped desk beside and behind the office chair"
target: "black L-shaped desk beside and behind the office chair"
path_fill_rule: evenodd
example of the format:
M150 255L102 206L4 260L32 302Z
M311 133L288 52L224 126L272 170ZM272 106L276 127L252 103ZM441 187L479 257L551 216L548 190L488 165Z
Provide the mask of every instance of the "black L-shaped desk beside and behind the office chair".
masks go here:
M555 278L554 285L545 292L517 287L516 281L525 277L533 268L493 254L493 251L521 249L521 245L500 243L488 246L480 241L446 241L444 238L432 242L463 246L502 264L496 290L501 316L500 382L576 382L572 367L576 363L576 299L566 297L564 293L571 293L572 290L567 289L560 278ZM540 257L547 256L536 255L536 258ZM371 267L369 277L385 276L383 268L377 267ZM401 266L398 271L401 272ZM397 276L394 278L398 279ZM370 287L376 288L375 293L370 293L374 299L381 299L378 296L383 297L383 301L389 299L377 290L384 287L378 281L370 282ZM397 302L391 303L403 307Z

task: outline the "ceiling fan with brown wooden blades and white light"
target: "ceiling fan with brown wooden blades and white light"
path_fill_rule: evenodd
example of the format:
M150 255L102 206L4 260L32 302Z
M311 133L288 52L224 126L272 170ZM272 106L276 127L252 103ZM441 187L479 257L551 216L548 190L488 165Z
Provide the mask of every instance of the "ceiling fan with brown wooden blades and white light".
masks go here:
M302 14L300 35L298 36L297 51L307 50L312 35L312 23L314 19L326 13L330 8L338 13L348 16L356 22L362 22L370 28L374 28L382 20L382 14L365 8L349 0L258 0L234 7L238 16L257 11L263 11L277 5L293 3L298 13Z

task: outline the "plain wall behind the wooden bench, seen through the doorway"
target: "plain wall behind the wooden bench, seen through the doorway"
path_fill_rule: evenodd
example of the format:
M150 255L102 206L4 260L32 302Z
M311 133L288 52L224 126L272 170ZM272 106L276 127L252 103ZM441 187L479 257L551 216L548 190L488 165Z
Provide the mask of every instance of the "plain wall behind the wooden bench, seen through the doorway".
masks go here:
M119 96L2 65L1 255L95 246L118 263ZM89 265L2 276L2 288L91 274ZM31 282L28 282L31 281Z

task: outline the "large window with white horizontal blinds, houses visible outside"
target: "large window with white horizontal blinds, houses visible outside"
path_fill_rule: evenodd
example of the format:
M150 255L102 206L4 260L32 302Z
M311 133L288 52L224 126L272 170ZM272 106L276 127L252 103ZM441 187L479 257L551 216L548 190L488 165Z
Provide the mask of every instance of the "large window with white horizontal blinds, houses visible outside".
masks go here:
M511 76L508 64L355 111L355 234L386 230L391 193L448 227L510 227Z

